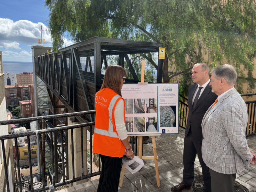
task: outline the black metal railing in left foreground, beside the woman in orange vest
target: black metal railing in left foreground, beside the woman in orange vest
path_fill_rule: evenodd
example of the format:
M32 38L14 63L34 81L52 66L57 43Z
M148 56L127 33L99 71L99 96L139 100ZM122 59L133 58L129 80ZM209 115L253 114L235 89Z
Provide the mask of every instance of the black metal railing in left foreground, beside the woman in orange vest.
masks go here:
M92 111L84 111L84 112L76 112L76 113L68 113L68 114L61 114L61 115L50 115L50 116L40 116L40 117L29 117L29 118L22 118L22 119L15 119L15 120L6 120L6 121L0 121L0 125L6 125L6 124L18 124L18 123L26 123L26 122L33 122L33 121L48 121L51 119L56 119L56 118L63 118L63 117L72 117L72 116L84 116L84 115L90 115L90 114L94 114L95 110ZM5 180L6 180L6 187L7 190L10 191L10 187L9 187L9 175L8 175L8 167L7 167L7 162L6 162L6 156L5 156L5 145L4 145L4 141L5 140L9 140L9 139L13 139L15 142L15 148L18 149L18 140L17 138L19 137L27 137L27 144L28 144L28 161L29 161L29 173L30 175L32 175L32 177L30 177L30 180L22 180L22 176L20 173L20 159L19 159L19 154L18 154L18 150L16 151L16 157L17 157L17 163L16 163L16 167L17 167L17 183L14 184L14 188L17 189L16 191L46 191L49 190L51 188L56 188L56 187L60 187L66 184L70 184L79 180L84 180L87 178L91 178L93 176L99 175L100 171L101 171L101 166L100 166L100 159L99 159L99 164L97 165L99 167L98 171L93 172L92 168L90 169L89 173L87 171L83 171L86 170L86 166L84 164L84 156L86 156L87 154L87 142L85 140L85 145L84 145L84 138L83 138L83 128L86 127L86 129L90 132L90 167L92 167L92 129L94 126L94 122L89 122L89 123L83 123L83 124L76 124L76 125L67 125L67 126L61 126L61 127L54 127L54 128L48 128L48 129L41 129L41 130L36 130L36 131L30 131L30 132L24 132L24 133L18 133L18 134L9 134L9 135L3 135L0 136L0 141L2 142L2 153L3 153L3 159L4 159L4 169L5 169ZM63 141L63 135L64 132L66 132L66 136L69 134L68 130L70 130L70 137L71 137L71 146L69 147L68 145L68 151L69 154L71 153L72 156L72 162L64 162L64 143L61 142L61 157L59 158L59 156L56 155L56 148L57 146L60 146L59 143L57 143L54 141L54 134L56 132L60 132L60 137L61 137L61 141ZM80 143L78 143L78 140L74 141L74 136L73 136L73 132L75 130L80 130L81 131L81 140ZM40 158L41 161L38 161L39 165L40 165L40 172L37 173L37 177L40 177L40 184L38 184L38 180L34 180L34 176L35 174L33 174L32 172L32 161L31 161L31 144L30 144L30 136L32 135L36 135L36 137L38 137L39 142L37 143L37 148L40 149ZM44 160L45 157L43 157L43 142L42 142L42 138L45 137L46 135L49 135L51 141L49 143L49 148L50 148L50 152L51 152L51 159L52 159L52 168L48 169L48 174L46 174L46 171L44 169L45 164L44 164ZM55 143L54 143L55 142ZM81 175L78 177L75 177L75 164L74 164L74 145L80 145L81 146ZM86 150L84 150L84 147L86 147ZM89 149L88 149L89 150ZM85 151L85 152L84 152ZM56 158L58 159L58 161L56 161ZM57 162L57 164L56 164ZM68 179L68 175L71 174L68 171L65 171L64 167L67 167L67 164L72 164L72 176L70 179ZM62 166L63 168L63 173L62 173L62 180L59 180L56 177L56 170L57 172L58 170L58 166ZM56 168L57 167L57 168ZM66 169L68 170L68 169ZM40 175L40 176L38 176ZM49 178L49 180L52 182L51 185L47 185L47 176L50 176L51 178Z

